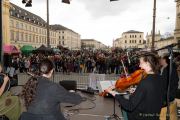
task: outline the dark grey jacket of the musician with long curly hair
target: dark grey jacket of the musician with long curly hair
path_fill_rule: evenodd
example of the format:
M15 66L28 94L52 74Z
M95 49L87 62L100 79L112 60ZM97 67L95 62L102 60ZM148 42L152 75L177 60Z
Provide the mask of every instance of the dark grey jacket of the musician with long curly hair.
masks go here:
M59 84L45 77L38 78L37 94L21 120L65 120L60 111L60 103L79 104L81 97L70 93Z

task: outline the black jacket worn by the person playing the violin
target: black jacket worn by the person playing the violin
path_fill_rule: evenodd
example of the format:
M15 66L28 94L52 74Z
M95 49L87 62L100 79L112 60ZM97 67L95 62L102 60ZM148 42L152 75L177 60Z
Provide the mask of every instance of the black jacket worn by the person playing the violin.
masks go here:
M128 120L159 120L162 92L162 77L149 74L140 81L129 100L121 95L116 95L115 99L127 111Z

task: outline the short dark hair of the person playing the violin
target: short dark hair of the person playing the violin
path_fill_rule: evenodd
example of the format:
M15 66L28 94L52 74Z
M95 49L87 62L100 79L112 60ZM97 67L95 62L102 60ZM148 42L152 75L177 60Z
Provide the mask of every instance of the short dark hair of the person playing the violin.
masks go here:
M145 62L148 62L152 68L152 71L157 74L159 72L159 59L158 56L154 53L146 53L140 55Z

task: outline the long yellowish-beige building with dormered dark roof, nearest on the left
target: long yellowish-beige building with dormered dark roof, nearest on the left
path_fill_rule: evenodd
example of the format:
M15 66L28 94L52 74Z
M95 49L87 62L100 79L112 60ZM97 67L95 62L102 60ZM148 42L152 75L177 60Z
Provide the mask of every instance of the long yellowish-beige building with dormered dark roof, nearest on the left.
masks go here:
M47 23L39 16L10 4L10 42L16 46L47 45ZM50 46L57 46L57 32L50 29Z

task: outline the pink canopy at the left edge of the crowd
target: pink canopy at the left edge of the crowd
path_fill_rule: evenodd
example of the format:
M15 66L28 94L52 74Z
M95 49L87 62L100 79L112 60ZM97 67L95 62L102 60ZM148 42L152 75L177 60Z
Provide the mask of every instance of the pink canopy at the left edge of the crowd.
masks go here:
M19 54L20 51L14 45L4 45L3 46L4 54Z

